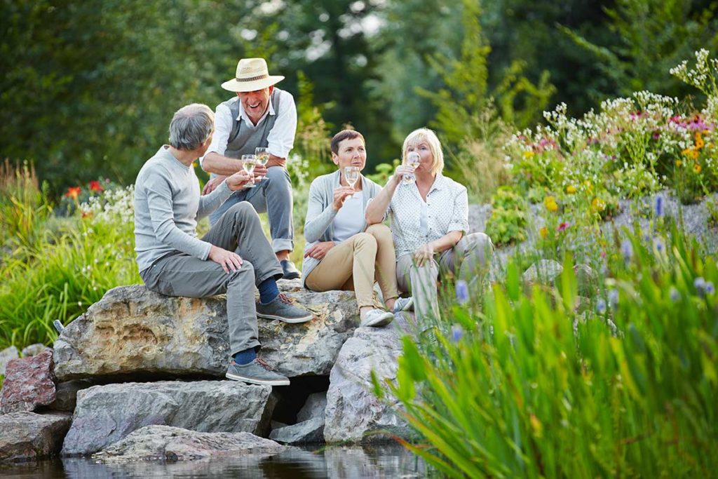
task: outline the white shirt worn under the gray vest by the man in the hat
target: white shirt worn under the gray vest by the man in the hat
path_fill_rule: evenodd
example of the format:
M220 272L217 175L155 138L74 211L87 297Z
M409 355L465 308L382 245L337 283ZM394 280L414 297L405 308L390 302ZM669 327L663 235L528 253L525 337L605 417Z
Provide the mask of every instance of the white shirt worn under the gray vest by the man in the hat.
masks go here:
M241 101L239 103L239 115L237 118L232 118L232 113L228 106L220 103L215 110L215 134L205 156L200 158L200 164L202 164L202 161L210 153L225 153L235 120L244 121L242 128L255 130L263 127L264 120L269 115L276 115L274 106L271 103L271 98L269 100L269 108L267 108L267 111L264 112L264 116L262 116L256 125L253 124L247 116ZM292 93L281 90L279 91L279 116L276 117L274 126L271 131L269 131L269 136L267 137L269 153L274 154L275 157L286 158L289 152L292 151L292 147L294 147L294 134L296 132L297 106L294 105L294 97Z

